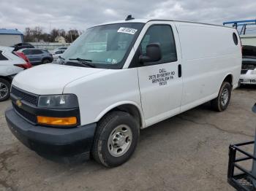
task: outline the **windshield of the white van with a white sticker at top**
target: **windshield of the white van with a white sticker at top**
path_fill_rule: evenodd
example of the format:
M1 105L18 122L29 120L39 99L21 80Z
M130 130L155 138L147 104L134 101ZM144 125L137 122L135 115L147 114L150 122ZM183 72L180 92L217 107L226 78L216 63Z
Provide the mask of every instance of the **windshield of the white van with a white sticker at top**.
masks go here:
M143 25L117 23L89 28L71 44L62 58L66 64L86 61L96 68L121 69Z

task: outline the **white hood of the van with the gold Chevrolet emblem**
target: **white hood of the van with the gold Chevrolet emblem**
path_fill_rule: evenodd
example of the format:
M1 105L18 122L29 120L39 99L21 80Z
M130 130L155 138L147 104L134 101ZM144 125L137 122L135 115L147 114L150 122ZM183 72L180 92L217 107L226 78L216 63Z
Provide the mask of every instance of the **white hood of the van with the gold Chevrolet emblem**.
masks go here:
M20 72L12 85L37 95L61 94L69 82L105 69L45 64Z

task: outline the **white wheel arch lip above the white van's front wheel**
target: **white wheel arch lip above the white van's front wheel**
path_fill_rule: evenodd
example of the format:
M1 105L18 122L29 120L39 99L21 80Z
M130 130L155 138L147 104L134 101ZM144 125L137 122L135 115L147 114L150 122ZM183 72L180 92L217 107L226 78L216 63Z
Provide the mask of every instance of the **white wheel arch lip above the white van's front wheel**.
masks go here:
M133 102L133 101L121 101L116 104L113 104L111 106L108 106L108 108L104 109L96 118L96 121L98 122L99 120L102 119L102 117L105 116L105 114L108 114L109 112L113 111L123 111L123 112L128 112L129 114L132 115L132 117L135 117L138 122L140 122L140 128L145 127L145 120L144 120L144 115L141 107L139 104Z

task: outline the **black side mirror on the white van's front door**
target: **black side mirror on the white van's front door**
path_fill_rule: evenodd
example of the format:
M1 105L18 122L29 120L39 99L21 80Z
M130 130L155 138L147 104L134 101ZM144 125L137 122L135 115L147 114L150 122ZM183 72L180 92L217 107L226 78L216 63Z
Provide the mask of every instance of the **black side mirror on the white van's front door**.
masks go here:
M161 48L158 43L148 44L146 47L146 55L140 55L140 63L151 63L160 61L162 58Z

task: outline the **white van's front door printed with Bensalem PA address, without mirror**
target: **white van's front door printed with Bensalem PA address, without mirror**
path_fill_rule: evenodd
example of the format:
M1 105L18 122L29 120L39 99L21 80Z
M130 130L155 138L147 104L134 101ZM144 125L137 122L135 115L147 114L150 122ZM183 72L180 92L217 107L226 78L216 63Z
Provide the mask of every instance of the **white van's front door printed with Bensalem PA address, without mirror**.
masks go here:
M139 63L138 77L141 103L146 126L180 112L182 76L181 52L176 26L172 22L150 22L139 50L146 54L146 46L159 43L162 59L151 65Z

